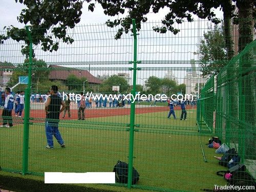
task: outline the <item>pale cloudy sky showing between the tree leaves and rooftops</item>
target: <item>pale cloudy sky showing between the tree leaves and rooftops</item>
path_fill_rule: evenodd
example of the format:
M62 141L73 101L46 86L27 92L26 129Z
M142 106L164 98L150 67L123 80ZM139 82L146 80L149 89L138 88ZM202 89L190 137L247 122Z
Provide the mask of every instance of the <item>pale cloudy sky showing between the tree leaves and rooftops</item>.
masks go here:
M118 63L120 61L126 61L127 57L131 58L132 60L133 41L130 40L131 33L123 35L124 38L122 40L113 40L113 38L112 40L108 39L109 35L114 37L118 29L111 29L104 25L106 20L111 17L104 15L103 9L100 6L96 6L94 12L89 12L87 7L88 4L84 4L81 21L78 27L69 31L69 33L75 39L72 46L60 44L60 48L57 53L42 52L39 46L34 46L33 48L35 49L37 58L44 59L48 63L54 63L57 65L59 62L61 62L62 65L64 64L70 66L70 63L73 62L75 63L76 67L89 67L89 65L86 65L86 63L88 64L92 61L110 61L112 63ZM23 4L15 3L14 0L0 0L0 31L3 31L4 26L10 25L19 28L25 27L24 24L17 22L17 16L24 8L25 6ZM179 26L181 32L177 35L173 35L171 33L159 34L153 32L152 27L156 25L161 26L160 21L162 18L164 18L167 11L167 9L163 9L159 14L148 14L148 23L144 24L142 26L142 30L139 32L138 59L145 60L144 65L141 65L141 67L163 67L165 64L168 64L168 67L190 67L190 59L198 60L198 55L193 53L197 53L199 37L203 35L205 30L207 30L206 28L208 23L203 21L194 23L186 22ZM216 10L216 14L221 17L222 12ZM197 20L196 16L194 18ZM89 24L93 24L93 26ZM197 30L198 28L200 28L200 30ZM90 31L93 31L93 34L90 34ZM102 33L100 34L97 32ZM86 45L84 45L85 42ZM20 55L20 47L22 44L19 42L18 44L12 46L13 47L11 50L14 51L8 53L5 52L4 56L0 55L0 61L2 61L4 57L5 60L7 59L12 63L23 62L24 57ZM108 46L108 48L106 48L106 46ZM10 48L2 45L2 51L3 50L10 50ZM78 65L78 61L82 61L80 66ZM157 63L155 61L157 61ZM170 64L172 65L170 66ZM122 65L122 67L126 66L128 65ZM99 66L90 65L90 67ZM106 65L103 67L106 67ZM117 67L120 67L120 65ZM119 72L126 73L127 71L125 70ZM92 70L91 73L93 73L95 76L106 74L105 70ZM116 72L109 72L109 75L111 75L111 73ZM131 72L127 73L131 74ZM179 74L180 72L177 70L175 73L175 75L179 76L180 79L184 77L184 75ZM165 75L164 72L161 72L160 74L160 72L154 72L154 70L146 72L144 71L144 73L140 74L141 79L145 79L150 75L157 75L160 77ZM179 81L181 82L182 80Z

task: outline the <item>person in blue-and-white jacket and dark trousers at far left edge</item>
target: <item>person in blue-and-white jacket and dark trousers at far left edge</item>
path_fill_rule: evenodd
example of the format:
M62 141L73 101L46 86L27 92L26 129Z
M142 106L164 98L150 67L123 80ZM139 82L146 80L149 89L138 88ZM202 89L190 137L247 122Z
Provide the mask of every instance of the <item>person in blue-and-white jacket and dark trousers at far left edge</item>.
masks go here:
M12 110L14 99L10 88L5 88L5 95L5 105L2 113L3 125L0 127L12 127ZM9 125L7 123L9 123Z

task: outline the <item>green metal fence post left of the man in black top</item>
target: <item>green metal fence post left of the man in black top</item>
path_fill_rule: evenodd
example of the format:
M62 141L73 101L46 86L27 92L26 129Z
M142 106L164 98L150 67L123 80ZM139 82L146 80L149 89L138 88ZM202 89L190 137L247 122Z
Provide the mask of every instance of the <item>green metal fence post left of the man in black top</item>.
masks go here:
M29 69L28 69L28 87L25 89L25 117L24 117L24 134L23 134L23 163L22 174L25 175L28 172L28 159L29 159L29 110L30 110L30 92L31 92L31 75L32 75L32 38L28 26L26 31L29 38Z

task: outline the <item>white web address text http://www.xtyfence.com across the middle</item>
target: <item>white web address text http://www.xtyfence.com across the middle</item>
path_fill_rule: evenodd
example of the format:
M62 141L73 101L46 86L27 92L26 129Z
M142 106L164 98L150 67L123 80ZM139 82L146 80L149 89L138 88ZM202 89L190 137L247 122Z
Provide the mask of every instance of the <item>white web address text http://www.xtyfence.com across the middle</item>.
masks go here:
M68 97L70 100L75 101L77 103L77 101L80 101L82 99L82 95L81 94L75 94L75 93L62 93L62 99L63 100L68 100ZM148 100L156 100L156 101L166 101L168 99L167 95L165 94L156 94L156 95L152 95L152 94L140 94L140 92L138 92L135 96L133 96L133 94L129 93L129 94L93 94L92 92L89 94L89 92L87 92L87 94L84 96L84 98L82 100L86 100L87 98L92 98L93 100L131 100L132 103L134 103L136 100L137 101L148 101ZM185 94L184 96L182 94L173 94L172 96L170 96L170 99L172 100L183 100L183 99L187 99L187 100L191 100L193 101L193 95L192 94Z

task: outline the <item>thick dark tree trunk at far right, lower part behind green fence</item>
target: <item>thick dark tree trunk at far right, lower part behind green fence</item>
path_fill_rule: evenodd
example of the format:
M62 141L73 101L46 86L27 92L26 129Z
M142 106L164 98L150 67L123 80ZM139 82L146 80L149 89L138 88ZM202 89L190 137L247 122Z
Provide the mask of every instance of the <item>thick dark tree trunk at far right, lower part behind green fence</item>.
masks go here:
M241 52L247 44L253 40L253 0L238 0L237 7L239 9L239 47ZM242 125L240 129L240 147L245 158L255 158L256 142L255 138L255 118L256 118L256 102L255 102L255 86L256 75L250 69L253 67L253 50L240 58L240 90L239 102L242 101L242 113L240 119L250 126ZM245 71L243 73L243 71ZM242 72L242 73L241 73ZM243 139L244 138L244 139Z

